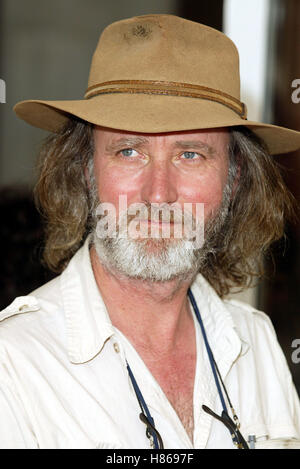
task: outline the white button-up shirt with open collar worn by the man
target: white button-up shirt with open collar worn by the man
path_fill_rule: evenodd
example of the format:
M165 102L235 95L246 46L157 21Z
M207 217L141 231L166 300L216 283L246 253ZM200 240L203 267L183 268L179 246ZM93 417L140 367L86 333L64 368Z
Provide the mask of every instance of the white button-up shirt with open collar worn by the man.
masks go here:
M245 439L300 448L300 406L269 318L192 284ZM192 309L191 309L192 310ZM0 448L150 448L126 359L166 449L234 448L202 410L222 408L197 321L194 439L138 353L110 321L89 246L57 278L0 313Z

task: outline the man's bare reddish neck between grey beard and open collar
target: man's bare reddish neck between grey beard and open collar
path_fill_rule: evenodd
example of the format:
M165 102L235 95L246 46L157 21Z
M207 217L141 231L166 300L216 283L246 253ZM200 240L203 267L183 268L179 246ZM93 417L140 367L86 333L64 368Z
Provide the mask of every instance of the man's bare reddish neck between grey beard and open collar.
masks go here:
M184 341L193 328L189 310L188 280L148 282L107 270L91 248L97 286L112 324L135 345L168 354Z

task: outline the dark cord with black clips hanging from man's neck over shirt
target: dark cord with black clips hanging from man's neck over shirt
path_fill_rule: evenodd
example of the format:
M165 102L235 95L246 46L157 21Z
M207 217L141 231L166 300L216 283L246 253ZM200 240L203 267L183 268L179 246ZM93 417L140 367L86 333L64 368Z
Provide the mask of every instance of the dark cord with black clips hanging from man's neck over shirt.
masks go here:
M190 301L191 301L191 304L193 306L193 309L194 309L195 315L197 317L197 320L200 324L203 340L204 340L204 343L205 343L206 351L207 351L207 354L208 354L210 366L211 366L211 369L212 369L212 372L213 372L213 376L214 376L214 379L215 379L215 383L216 383L216 386L217 386L217 390L218 390L218 394L219 394L219 397L220 397L220 400L221 400L223 411L222 411L221 416L219 416L219 415L215 414L215 412L213 412L211 409L209 409L209 407L207 407L205 405L202 406L202 409L206 413L212 415L217 420L221 421L228 428L228 430L230 432L230 435L231 435L231 438L232 438L232 441L237 446L237 448L239 448L239 449L249 449L246 441L244 440L242 434L239 431L239 427L240 427L239 419L238 419L238 417L235 413L235 410L234 410L234 408L231 404L231 401L229 399L227 390L225 388L225 385L223 383L221 374L219 372L218 366L215 362L213 353L211 351L210 345L209 345L208 340L207 340L206 332L205 332L205 329L204 329L203 321L202 321L202 318L201 318L197 303L196 303L194 295L192 294L192 291L190 289L188 289L188 296L190 298ZM139 388L139 386L136 382L136 379L135 379L135 377L132 373L132 370L131 370L128 363L127 363L127 370L128 370L128 374L129 374L131 383L133 385L133 388L134 388L138 403L140 405L141 413L140 413L139 417L140 417L141 421L146 425L147 438L149 438L150 444L151 444L152 447L154 447L155 449L163 449L164 446L163 446L162 438L161 438L159 432L157 431L157 429L155 428L154 419L150 414L150 411L149 411L148 406L145 402L145 399L143 398L141 390L140 390L140 388ZM221 388L220 382L221 382L221 385L222 385L223 390L225 392L228 404L230 406L230 409L231 409L231 412L232 412L232 415L233 415L233 420L228 415L228 411L227 411L225 399L224 399L224 396L223 396L223 393L222 393L222 388Z

